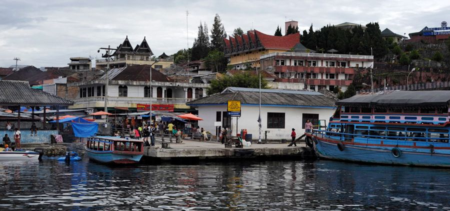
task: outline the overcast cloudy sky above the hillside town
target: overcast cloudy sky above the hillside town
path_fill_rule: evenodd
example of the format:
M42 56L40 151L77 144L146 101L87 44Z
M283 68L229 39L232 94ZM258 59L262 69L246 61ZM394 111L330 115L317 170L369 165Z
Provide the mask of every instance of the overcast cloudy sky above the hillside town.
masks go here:
M227 34L236 27L273 34L284 21L298 21L300 31L326 24L378 21L381 30L415 32L450 22L444 0L0 0L0 66L66 66L69 57L101 56L99 47L132 45L143 37L154 54L172 54L192 45L200 21L209 30L215 13Z

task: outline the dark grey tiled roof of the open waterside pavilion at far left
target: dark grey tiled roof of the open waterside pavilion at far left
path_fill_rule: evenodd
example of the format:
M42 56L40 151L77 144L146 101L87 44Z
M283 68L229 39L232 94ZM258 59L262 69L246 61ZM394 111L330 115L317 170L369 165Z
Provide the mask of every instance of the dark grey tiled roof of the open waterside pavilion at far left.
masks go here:
M1 105L72 105L73 102L31 88L28 81L0 80Z

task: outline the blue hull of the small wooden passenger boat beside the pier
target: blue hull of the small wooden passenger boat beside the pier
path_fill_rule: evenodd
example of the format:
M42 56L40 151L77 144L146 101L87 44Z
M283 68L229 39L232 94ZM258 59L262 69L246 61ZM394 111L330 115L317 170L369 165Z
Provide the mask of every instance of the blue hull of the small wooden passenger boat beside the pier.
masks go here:
M116 164L132 164L139 162L143 154L125 154L114 153L113 151L91 151L86 149L86 154L90 160L94 160L101 163L116 163Z

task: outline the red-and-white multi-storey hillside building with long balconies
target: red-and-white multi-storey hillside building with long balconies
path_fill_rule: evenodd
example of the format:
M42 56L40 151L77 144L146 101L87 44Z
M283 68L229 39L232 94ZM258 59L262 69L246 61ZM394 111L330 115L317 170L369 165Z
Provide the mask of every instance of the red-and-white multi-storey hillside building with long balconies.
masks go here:
M373 66L372 55L272 52L260 56L261 69L273 72L275 82L302 83L311 90L339 87L344 91L358 68Z

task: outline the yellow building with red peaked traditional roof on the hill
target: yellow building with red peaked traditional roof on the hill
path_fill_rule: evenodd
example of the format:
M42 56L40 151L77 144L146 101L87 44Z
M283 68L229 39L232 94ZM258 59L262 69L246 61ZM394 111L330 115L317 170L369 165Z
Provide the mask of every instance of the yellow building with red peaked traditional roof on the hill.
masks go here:
M229 57L229 64L236 69L243 69L246 66L259 67L259 56L263 54L291 50L300 42L300 33L273 36L250 30L246 34L235 34L234 37L224 38L224 41L224 53Z

